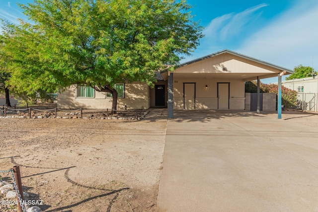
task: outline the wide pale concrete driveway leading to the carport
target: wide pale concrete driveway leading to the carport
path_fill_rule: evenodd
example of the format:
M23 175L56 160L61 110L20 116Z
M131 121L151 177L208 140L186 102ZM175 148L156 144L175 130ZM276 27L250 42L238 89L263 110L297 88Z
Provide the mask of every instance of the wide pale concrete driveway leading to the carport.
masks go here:
M318 212L318 128L284 117L176 111L158 211Z

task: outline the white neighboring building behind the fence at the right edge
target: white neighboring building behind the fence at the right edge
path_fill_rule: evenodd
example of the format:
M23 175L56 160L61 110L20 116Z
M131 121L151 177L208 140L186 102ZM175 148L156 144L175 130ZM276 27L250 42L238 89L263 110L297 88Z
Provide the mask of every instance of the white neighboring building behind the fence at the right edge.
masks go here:
M298 92L298 109L317 112L317 76L282 81L282 85Z

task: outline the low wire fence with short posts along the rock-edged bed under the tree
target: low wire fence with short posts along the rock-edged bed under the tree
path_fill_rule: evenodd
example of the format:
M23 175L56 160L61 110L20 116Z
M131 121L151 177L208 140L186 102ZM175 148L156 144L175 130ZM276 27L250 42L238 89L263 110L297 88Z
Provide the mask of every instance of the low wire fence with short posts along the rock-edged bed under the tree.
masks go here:
M0 108L0 118L60 118L60 119L118 119L140 120L147 115L142 109L116 110L111 109L60 109L60 108Z

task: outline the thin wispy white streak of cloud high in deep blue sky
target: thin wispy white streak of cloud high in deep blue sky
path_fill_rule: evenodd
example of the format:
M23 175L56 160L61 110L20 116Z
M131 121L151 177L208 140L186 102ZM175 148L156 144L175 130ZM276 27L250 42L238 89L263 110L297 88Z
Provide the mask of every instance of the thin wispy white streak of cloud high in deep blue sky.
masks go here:
M243 26L253 20L255 12L264 6L268 6L268 4L262 3L239 13L232 12L214 18L205 28L203 34L206 35L206 38L218 38L220 40L233 37L243 30Z

